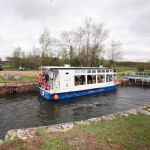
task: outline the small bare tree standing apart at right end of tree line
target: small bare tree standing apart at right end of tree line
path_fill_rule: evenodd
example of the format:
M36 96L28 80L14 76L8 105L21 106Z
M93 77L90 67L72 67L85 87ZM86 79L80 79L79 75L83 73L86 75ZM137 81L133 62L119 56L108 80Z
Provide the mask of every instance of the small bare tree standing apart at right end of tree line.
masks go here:
M111 41L110 49L108 51L108 57L111 63L114 63L117 60L122 58L122 46L120 41Z

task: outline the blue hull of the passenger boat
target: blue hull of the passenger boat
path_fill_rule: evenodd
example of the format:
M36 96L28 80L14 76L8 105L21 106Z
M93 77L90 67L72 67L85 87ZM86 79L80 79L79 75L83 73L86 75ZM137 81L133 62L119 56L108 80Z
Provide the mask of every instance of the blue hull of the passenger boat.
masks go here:
M40 95L44 99L49 100L49 101L56 101L54 100L54 95L58 96L58 100L65 100L65 99L70 99L73 97L80 97L80 96L91 95L91 94L96 94L96 93L105 93L105 92L109 92L113 90L116 90L116 86L109 86L109 87L89 89L89 90L83 90L83 91L75 91L75 92L50 94L49 92L43 90L42 88L39 88Z

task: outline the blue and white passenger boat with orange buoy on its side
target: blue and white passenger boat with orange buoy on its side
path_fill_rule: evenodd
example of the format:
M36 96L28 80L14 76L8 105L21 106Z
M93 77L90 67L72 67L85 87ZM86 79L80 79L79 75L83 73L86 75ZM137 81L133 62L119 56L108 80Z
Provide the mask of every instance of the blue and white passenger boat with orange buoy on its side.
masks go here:
M43 70L48 81L43 81ZM116 89L117 76L113 68L44 66L39 74L39 93L49 101L58 101Z

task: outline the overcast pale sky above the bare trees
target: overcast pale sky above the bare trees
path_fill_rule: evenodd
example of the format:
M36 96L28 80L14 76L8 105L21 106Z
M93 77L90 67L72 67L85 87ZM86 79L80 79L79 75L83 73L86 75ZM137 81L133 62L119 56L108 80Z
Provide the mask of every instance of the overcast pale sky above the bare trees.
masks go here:
M150 0L0 0L0 58L38 46L46 26L57 37L87 17L121 41L123 60L150 60Z

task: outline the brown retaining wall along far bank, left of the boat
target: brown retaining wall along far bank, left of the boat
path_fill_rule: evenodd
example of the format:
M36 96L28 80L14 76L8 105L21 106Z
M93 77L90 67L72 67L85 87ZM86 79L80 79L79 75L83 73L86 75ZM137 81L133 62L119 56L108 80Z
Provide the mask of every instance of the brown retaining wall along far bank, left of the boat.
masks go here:
M36 91L37 83L0 84L0 95Z

